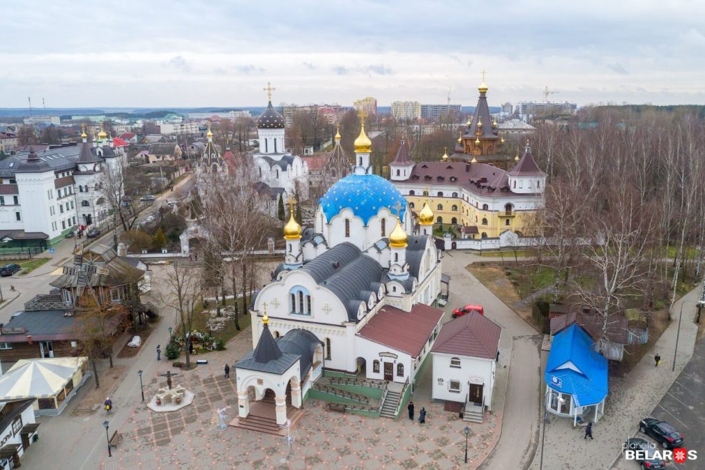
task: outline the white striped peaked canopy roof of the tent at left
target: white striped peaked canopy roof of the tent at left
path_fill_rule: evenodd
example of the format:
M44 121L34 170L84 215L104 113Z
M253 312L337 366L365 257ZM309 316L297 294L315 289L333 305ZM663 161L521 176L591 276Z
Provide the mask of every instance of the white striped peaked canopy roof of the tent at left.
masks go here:
M0 400L49 398L59 394L87 359L20 359L0 377Z

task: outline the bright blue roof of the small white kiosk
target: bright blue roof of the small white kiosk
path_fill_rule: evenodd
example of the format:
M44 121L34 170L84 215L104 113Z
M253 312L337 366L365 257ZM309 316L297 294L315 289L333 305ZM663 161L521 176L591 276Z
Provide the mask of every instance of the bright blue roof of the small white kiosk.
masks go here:
M594 350L585 330L571 325L553 337L544 380L548 387L570 393L577 407L587 407L607 396L607 359Z

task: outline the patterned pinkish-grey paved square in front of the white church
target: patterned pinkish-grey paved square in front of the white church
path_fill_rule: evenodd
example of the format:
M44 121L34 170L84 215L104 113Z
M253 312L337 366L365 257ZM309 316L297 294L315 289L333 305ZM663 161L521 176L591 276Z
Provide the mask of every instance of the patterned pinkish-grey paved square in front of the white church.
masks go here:
M104 457L104 469L172 468L472 468L482 462L499 433L501 420L488 414L484 423L465 423L458 414L443 411L443 405L419 402L427 409L427 423L369 418L328 412L324 402L308 400L305 414L293 428L295 443L288 462L288 446L281 436L240 428L216 429L211 420L218 407L230 405L228 421L237 409L235 373L225 378L221 367L233 362L250 347L250 331L238 335L225 352L208 354L207 366L179 372L174 385L195 393L193 404L176 412L154 413L137 402L125 426L123 440ZM164 364L166 370L167 364ZM164 386L164 378L159 383ZM147 400L157 390L157 379L145 383ZM465 435L469 424L468 464L463 464Z

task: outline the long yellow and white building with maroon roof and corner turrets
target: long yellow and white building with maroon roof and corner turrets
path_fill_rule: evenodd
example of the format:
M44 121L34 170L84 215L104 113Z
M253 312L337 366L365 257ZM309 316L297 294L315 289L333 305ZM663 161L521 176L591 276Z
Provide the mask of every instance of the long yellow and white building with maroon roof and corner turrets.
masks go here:
M525 228L527 216L544 206L546 173L527 142L514 168L504 171L487 163L441 161L415 163L402 140L390 163L390 179L418 212L428 201L435 225L455 225L464 238L494 238L506 230L533 235Z

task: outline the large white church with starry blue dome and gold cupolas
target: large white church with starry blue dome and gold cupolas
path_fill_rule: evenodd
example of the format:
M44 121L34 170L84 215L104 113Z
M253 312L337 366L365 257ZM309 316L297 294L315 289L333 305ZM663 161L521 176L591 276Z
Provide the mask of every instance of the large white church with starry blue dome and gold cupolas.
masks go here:
M286 423L326 371L413 384L441 328L434 214L424 204L415 221L403 194L372 173L364 122L354 144L350 174L319 199L312 226L289 202L286 254L255 292L254 349L235 364L241 419L269 396Z

